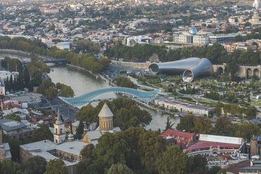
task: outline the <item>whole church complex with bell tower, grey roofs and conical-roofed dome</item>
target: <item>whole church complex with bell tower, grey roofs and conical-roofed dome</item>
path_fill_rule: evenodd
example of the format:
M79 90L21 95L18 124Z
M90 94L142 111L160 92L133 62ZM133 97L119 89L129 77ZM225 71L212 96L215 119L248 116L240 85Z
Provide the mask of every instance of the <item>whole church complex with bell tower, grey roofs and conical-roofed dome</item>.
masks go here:
M99 127L95 131L88 131L82 140L74 140L72 128L66 139L65 123L62 121L58 111L58 117L53 124L53 141L43 140L32 142L27 145L20 145L20 161L25 163L33 156L42 156L46 161L61 158L69 173L76 173L76 164L81 161L81 149L88 144L96 145L98 138L104 133L121 131L119 127L113 128L113 114L108 105L102 107L99 116ZM0 149L1 152L1 149Z

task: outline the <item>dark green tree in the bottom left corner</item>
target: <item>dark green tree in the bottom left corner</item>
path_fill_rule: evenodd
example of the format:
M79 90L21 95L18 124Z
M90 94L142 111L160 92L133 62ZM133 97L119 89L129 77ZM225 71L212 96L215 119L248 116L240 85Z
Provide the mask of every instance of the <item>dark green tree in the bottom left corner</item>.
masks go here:
M15 163L8 159L4 159L4 161L1 161L0 167L1 174L17 174L17 172L20 170L19 163Z

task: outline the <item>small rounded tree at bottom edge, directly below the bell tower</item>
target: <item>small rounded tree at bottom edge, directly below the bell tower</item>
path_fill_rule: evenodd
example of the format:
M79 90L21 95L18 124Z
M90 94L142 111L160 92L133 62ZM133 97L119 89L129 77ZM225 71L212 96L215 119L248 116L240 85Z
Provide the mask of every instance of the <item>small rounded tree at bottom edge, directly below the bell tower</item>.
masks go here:
M62 159L51 159L46 165L44 174L67 174L68 170Z

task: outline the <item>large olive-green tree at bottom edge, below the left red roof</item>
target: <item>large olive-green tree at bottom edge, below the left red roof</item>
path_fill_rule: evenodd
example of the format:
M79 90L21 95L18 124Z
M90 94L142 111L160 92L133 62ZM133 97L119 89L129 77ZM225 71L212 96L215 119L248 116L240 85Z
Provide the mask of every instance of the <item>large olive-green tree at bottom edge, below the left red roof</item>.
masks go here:
M159 173L182 174L189 169L188 157L177 146L168 146L162 157L156 161L156 169Z

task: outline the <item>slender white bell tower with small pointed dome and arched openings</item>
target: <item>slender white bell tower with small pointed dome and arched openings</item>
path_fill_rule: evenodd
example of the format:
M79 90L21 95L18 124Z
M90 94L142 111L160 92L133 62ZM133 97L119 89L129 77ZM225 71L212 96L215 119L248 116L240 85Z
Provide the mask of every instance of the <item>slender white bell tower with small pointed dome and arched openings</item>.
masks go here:
M60 144L65 141L65 123L63 123L60 117L59 108L57 114L58 114L57 120L53 124L53 128L54 128L53 141L55 143Z

